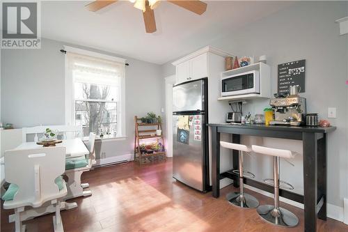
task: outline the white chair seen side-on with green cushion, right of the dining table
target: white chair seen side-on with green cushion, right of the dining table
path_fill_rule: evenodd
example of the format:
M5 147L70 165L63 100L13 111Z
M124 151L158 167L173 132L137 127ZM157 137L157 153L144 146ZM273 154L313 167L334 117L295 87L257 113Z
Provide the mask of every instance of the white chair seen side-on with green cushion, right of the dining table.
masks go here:
M89 155L81 157L67 158L65 161L65 175L68 176L68 194L65 199L72 199L79 196L90 196L90 190L84 191L89 187L88 183L81 183L81 175L84 171L89 171L95 164L95 134L90 133L88 139Z

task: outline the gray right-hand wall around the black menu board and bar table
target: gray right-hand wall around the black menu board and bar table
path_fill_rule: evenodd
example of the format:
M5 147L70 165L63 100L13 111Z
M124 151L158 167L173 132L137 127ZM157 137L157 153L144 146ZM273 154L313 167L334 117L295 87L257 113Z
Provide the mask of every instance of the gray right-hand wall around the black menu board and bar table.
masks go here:
M299 2L284 10L249 24L238 31L231 31L227 36L209 43L237 56L258 56L266 54L271 65L271 88L276 92L279 63L306 59L306 93L308 112L319 113L327 117L327 108L337 108L337 118L330 118L338 130L329 134L328 142L328 202L342 206L347 192L347 35L339 36L339 25L335 20L347 16L347 1L340 2ZM169 63L162 65L164 75L172 75L175 69ZM227 103L226 103L227 104ZM262 113L267 107L267 100L249 102L244 111L252 114ZM301 153L301 143L296 141L267 140L244 138L248 141L267 144L267 146L287 147ZM248 159L248 157L246 157ZM271 169L269 162L262 162L260 157L246 160L246 167L261 173L264 168ZM286 162L283 178L296 185L297 191L303 191L301 173L302 156L294 160L292 168ZM255 160L257 162L255 162ZM249 163L249 164L248 164ZM267 164L260 165L258 164ZM269 172L269 171L268 171ZM294 175L296 173L296 175ZM263 173L269 177L271 173ZM267 176L268 175L268 176Z

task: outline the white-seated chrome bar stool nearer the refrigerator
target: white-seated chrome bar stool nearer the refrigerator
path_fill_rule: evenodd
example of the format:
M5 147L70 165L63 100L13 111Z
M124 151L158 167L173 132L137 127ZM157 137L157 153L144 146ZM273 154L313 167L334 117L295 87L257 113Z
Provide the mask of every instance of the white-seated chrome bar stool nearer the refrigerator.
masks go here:
M255 199L254 196L244 193L244 173L250 174L251 178L255 176L253 173L244 172L243 169L243 153L251 152L251 148L242 144L232 144L225 141L220 141L220 145L223 148L239 150L239 170L233 170L234 173L239 173L239 191L240 192L230 192L226 195L226 199L232 203L234 206L241 208L256 208L259 205L258 199Z

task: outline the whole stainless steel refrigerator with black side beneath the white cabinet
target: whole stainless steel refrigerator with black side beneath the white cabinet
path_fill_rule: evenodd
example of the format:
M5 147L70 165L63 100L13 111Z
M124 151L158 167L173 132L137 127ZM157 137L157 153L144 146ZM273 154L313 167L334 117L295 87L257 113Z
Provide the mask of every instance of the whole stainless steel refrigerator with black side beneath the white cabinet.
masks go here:
M209 187L207 78L173 86L173 178L201 192Z

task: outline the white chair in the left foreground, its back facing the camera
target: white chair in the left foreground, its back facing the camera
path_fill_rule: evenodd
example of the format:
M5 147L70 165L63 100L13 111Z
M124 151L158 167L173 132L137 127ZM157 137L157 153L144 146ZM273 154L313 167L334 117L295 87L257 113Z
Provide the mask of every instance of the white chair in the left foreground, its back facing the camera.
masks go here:
M3 198L4 209L15 210L15 231L22 226L24 207L39 208L44 203L55 207L54 231L63 231L60 200L68 192L61 175L65 171L65 147L49 147L5 152L5 176L11 183Z

